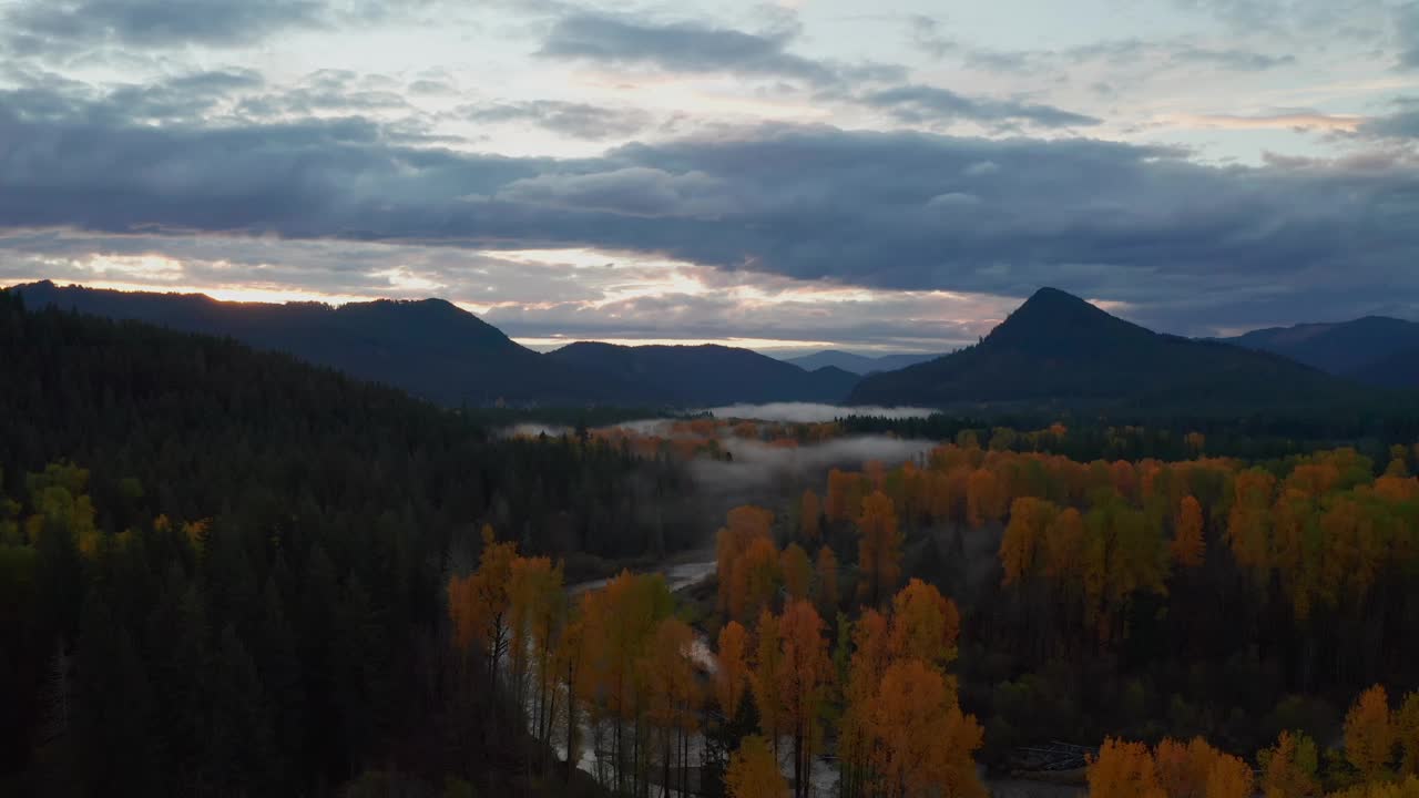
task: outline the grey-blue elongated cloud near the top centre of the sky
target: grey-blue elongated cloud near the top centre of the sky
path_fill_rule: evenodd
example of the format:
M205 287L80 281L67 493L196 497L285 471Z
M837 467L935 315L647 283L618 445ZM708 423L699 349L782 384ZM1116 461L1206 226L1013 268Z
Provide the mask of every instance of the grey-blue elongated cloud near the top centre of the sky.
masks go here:
M558 20L541 55L668 72L775 77L826 87L843 81L900 80L900 67L839 65L788 53L795 30L744 33L697 23L653 24L599 14Z

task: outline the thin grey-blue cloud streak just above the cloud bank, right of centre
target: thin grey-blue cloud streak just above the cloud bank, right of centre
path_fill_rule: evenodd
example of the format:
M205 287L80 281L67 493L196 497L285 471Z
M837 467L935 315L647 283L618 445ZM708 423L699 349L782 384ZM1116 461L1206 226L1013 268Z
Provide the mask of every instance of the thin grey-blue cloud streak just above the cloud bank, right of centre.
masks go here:
M928 85L902 85L866 94L863 102L881 108L907 124L981 122L983 125L1029 124L1040 128L1097 125L1100 121L1034 102L972 98Z

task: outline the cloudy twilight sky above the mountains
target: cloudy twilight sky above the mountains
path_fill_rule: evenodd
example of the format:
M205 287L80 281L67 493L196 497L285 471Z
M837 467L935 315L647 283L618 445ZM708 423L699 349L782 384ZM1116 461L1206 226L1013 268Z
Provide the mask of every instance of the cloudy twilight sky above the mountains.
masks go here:
M1419 1L0 0L0 284L938 352L1419 319Z

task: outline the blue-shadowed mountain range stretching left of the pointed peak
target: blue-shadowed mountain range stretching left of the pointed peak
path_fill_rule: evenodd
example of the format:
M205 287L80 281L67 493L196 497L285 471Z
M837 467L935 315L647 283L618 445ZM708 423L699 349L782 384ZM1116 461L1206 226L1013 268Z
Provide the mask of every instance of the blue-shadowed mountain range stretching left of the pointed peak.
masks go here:
M57 305L289 352L444 405L712 406L841 402L857 381L727 346L573 344L539 354L443 300L223 302L204 294L14 287L30 307Z

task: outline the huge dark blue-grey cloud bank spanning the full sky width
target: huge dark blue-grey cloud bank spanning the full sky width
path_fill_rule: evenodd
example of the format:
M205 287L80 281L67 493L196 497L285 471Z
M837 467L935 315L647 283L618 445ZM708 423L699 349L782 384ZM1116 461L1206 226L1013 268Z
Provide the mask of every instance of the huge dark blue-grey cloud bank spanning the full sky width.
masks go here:
M57 105L57 108L55 108ZM587 159L397 143L369 121L122 124L0 95L0 227L597 247L881 288L1053 284L1169 317L1419 294L1401 151L1213 168L1159 146L763 126ZM1151 308L1151 310L1149 310Z

